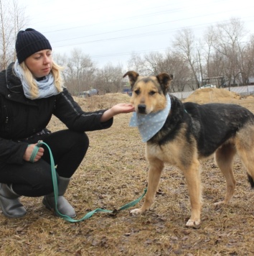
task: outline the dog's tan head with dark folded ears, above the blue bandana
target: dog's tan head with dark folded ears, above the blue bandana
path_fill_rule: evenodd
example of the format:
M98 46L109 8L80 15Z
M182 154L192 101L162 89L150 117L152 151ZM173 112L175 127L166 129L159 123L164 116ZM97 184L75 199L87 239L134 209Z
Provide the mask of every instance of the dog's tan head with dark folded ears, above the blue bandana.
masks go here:
M173 79L173 75L160 73L158 76L139 76L135 71L128 71L131 84L131 103L136 113L149 114L166 107L166 93Z

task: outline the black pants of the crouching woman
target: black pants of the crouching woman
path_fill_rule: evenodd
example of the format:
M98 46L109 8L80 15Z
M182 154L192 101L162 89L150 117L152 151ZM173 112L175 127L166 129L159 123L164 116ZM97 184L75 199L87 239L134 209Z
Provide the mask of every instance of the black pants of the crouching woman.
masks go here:
M57 176L70 178L77 170L86 151L88 136L82 132L62 130L48 134L42 139L52 152ZM34 143L34 142L33 142ZM45 145L42 159L35 163L24 161L23 165L0 163L0 183L12 184L20 196L44 196L53 192L50 153Z

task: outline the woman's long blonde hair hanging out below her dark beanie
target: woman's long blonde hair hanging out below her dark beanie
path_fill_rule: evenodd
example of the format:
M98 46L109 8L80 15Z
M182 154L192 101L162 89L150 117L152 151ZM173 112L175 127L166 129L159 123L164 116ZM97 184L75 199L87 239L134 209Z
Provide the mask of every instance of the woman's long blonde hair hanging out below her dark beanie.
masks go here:
M27 80L27 83L29 85L31 97L32 97L32 99L36 99L38 96L38 93L39 93L36 80L34 79L34 76L32 75L29 68L27 68L27 65L24 63L24 61L22 63L20 63L20 66L24 70L24 78ZM57 65L57 63L55 63L53 61L52 69L50 72L52 73L52 76L54 78L55 87L57 88L57 91L59 91L59 92L61 92L62 88L64 88L63 80L62 80L62 76L61 76L61 71L63 69L64 69L63 67L61 67L60 65Z

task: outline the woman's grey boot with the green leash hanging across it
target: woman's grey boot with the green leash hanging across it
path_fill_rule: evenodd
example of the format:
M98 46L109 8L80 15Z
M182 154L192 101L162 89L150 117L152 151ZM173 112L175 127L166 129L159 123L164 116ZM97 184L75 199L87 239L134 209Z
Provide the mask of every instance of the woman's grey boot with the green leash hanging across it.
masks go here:
M60 212L60 214L74 218L76 216L75 210L63 196L65 194L65 191L67 190L69 183L70 183L70 178L59 177L57 210ZM60 214L58 214L55 209L55 193L54 192L50 193L47 196L44 196L42 200L42 204L44 204L44 206L46 206L47 209L54 211L56 216L60 216Z

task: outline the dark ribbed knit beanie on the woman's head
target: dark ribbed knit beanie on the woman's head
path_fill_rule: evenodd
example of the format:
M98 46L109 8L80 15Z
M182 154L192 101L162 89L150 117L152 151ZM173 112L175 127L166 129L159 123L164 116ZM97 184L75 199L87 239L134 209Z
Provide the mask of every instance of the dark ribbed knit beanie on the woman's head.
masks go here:
M49 40L34 29L21 30L17 34L16 52L19 64L40 50L52 50Z

